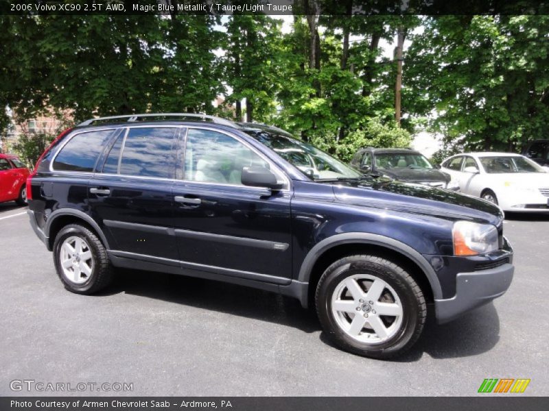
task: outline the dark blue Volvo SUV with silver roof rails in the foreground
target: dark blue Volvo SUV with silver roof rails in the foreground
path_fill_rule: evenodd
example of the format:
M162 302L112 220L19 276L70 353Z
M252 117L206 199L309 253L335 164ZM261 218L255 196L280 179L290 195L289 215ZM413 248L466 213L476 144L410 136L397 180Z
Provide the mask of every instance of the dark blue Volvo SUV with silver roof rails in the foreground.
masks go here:
M314 168L314 169L312 169ZM339 347L388 358L513 277L487 201L362 174L283 130L201 114L92 119L27 180L30 222L72 292L115 267L279 292Z

